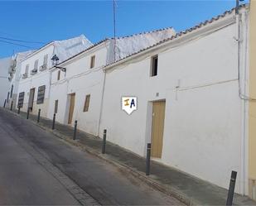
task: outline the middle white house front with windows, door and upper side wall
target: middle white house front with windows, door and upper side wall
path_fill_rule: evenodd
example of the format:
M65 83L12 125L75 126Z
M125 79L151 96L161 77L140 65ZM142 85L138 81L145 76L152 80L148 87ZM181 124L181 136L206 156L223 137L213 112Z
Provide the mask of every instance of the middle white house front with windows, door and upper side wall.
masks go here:
M175 31L170 27L120 37L115 42L107 39L60 64L65 67L65 73L52 69L48 117L56 113L57 122L70 125L77 120L80 130L99 136L105 81L103 67L173 35Z

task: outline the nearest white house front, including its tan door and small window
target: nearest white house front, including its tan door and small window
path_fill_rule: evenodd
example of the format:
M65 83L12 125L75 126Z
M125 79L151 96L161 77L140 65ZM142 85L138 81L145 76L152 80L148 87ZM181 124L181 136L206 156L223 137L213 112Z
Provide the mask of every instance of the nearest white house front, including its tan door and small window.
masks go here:
M139 156L152 143L153 160L223 188L235 170L236 192L248 194L248 16L225 12L106 66L100 137L107 129ZM122 97L137 110L125 113Z

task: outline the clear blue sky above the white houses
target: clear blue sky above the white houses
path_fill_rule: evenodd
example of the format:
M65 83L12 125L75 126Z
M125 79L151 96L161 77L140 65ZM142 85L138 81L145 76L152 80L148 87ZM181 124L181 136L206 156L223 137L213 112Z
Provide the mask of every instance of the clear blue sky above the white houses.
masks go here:
M116 0L115 5L116 36L128 36L169 26L185 30L235 7L235 0ZM113 17L111 0L0 0L0 58L81 34L93 43L113 37Z

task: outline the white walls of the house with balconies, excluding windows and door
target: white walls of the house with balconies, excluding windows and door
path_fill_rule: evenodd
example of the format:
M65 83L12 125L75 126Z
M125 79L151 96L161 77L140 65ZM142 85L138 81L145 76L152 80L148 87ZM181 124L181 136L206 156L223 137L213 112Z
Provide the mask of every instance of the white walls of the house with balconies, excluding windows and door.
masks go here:
M40 50L36 50L33 54L29 55L27 59L22 61L22 72L25 73L26 65L29 64L28 78L21 79L19 84L19 93L25 92L26 97L24 101L23 111L27 111L27 103L29 98L29 91L32 88L36 89L34 96L34 105L32 113L37 113L38 109L41 108L41 116L47 117L48 114L48 102L51 86L51 74L49 69L51 68L51 57L57 55L60 59L60 62L70 58L73 55L80 53L80 51L87 49L89 46L92 46L92 43L85 38L84 35L77 36L64 41L53 41L50 44L44 46ZM39 68L43 65L44 56L48 55L47 59L47 69L40 71ZM36 60L38 62L38 71L36 74L31 75L31 70L34 69L34 63ZM44 103L37 104L37 92L38 87L46 85L45 91L45 100Z

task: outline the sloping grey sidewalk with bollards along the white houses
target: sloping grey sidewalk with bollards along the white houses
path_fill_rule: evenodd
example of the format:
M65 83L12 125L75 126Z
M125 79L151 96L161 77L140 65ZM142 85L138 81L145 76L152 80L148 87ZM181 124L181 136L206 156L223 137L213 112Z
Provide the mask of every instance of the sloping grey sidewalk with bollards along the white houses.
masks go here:
M12 111L17 113L17 111ZM27 117L27 113L20 113ZM37 117L30 114L30 120L36 122ZM120 170L128 172L152 187L166 194L176 197L187 205L225 205L228 191L204 180L162 165L155 161L151 163L151 174L145 175L146 160L141 156L123 149L120 146L107 142L106 154L101 154L102 140L85 132L77 131L77 141L73 141L74 128L56 122L56 129L51 130L52 121L41 118L40 127L53 132L57 137L80 146L100 158L117 165ZM108 139L108 137L107 137ZM239 194L234 194L234 205L256 205L256 202Z

